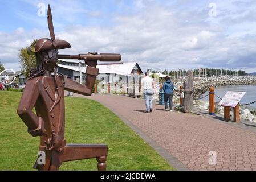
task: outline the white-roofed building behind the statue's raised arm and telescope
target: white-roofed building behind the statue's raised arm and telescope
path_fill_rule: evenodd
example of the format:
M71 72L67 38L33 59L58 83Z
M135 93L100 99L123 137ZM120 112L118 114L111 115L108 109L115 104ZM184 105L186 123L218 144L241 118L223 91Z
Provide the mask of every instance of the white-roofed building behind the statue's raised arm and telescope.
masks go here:
M81 67L79 68L79 60L61 60L58 64L58 72L66 78L80 82L81 69L83 82L86 77L86 65L82 63L81 61ZM124 93L129 93L130 96L139 96L136 93L139 93L139 82L143 72L137 62L98 64L97 68L99 68L99 75L96 79L101 81L103 85L110 85L109 93L116 92L116 88L119 88L119 84L121 84ZM135 79L135 77L137 78ZM116 85L117 82L118 85Z

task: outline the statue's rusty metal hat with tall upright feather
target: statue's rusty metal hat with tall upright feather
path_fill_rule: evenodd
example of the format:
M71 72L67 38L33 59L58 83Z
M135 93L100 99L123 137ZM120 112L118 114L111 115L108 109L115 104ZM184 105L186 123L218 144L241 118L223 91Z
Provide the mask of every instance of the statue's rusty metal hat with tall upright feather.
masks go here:
M27 50L29 54L37 53L37 52L43 52L43 51L49 51L52 49L66 49L70 48L70 43L68 43L65 40L55 40L55 34L54 34L54 25L52 23L52 15L51 15L51 7L48 5L48 12L47 12L47 19L48 19L48 28L50 31L51 39L43 38L39 39L35 44L35 49L32 50L31 47Z

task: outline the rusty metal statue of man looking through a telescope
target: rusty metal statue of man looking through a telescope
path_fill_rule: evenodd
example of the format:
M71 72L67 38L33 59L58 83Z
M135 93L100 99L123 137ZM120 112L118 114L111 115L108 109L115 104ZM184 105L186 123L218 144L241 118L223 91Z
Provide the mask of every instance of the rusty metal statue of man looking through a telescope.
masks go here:
M58 55L59 49L70 48L65 40L56 40L48 5L48 27L51 39L36 42L35 49L28 50L36 56L37 69L31 71L23 91L17 113L33 137L40 136L39 151L46 154L45 164L34 165L39 170L58 170L62 162L81 159L97 159L99 170L105 170L108 146L105 144L66 144L64 139L65 108L64 90L90 96L99 69L97 61L120 61L119 54L88 53ZM56 71L58 59L79 59L87 64L85 85L64 78ZM32 111L35 107L36 114Z

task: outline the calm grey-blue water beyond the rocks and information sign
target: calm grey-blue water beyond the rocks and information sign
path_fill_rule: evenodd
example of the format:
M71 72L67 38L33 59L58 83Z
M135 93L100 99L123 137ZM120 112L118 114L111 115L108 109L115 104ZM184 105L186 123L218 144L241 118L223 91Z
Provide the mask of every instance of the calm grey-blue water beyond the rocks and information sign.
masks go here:
M227 91L246 92L240 104L246 104L248 102L256 101L256 85L228 85L228 86L219 86L215 89L215 93L221 98L227 93ZM206 94L208 94L208 92L206 92L204 96ZM203 100L208 101L209 97L206 97ZM220 99L215 97L215 102L218 102L218 101L220 101ZM249 106L256 107L256 104L252 104Z

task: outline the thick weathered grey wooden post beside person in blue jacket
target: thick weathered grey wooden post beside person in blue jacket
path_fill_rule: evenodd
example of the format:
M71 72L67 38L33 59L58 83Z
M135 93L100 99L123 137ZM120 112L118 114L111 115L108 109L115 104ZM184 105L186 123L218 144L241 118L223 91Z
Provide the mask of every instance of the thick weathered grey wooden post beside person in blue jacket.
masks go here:
M184 81L184 113L193 110L193 71L188 71L188 76Z

